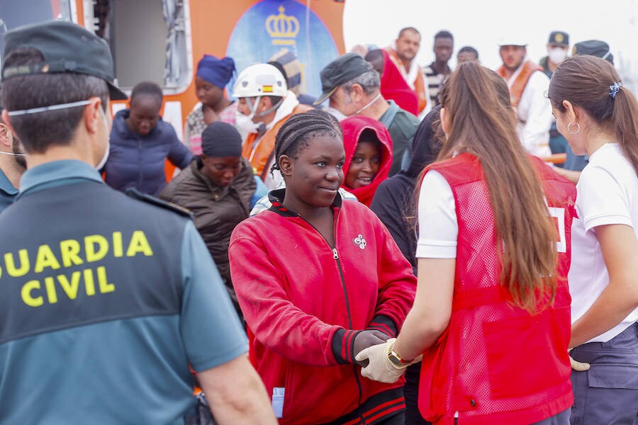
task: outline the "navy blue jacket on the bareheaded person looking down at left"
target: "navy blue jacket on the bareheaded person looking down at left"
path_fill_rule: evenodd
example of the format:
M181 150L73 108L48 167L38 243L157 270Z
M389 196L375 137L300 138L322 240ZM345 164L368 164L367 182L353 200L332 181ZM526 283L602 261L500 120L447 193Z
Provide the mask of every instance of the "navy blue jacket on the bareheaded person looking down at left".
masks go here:
M166 184L164 162L184 169L192 154L184 146L169 123L159 118L148 135L141 136L128 128L125 119L129 111L116 114L111 129L111 150L104 166L106 183L118 191L136 188L142 193L157 196Z

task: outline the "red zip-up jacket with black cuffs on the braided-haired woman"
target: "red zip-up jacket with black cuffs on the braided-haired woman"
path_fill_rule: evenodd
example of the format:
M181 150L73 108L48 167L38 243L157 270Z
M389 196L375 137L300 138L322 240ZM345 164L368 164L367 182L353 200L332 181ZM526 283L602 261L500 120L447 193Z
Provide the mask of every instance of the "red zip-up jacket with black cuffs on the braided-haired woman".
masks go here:
M363 378L352 342L366 328L396 335L414 300L412 267L361 203L335 198L333 249L281 206L284 191L230 239L251 360L269 395L285 388L281 424L374 424L405 407L403 380Z

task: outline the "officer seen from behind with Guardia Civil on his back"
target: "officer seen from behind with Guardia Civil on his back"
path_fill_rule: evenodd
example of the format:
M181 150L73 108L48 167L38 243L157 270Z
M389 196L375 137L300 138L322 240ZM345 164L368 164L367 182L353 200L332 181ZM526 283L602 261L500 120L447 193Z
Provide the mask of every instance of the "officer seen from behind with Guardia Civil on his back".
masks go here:
M6 34L2 117L29 154L0 216L0 423L275 424L188 214L108 188L106 42L51 21ZM232 380L232 382L230 382Z

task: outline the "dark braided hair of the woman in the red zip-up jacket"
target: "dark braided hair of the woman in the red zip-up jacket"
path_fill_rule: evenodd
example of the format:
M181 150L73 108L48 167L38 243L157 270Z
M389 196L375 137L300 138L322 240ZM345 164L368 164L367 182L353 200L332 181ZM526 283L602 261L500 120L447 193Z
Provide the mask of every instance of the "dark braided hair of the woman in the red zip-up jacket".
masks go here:
M318 109L292 115L275 137L275 160L270 171L279 170L281 155L296 159L298 152L308 147L310 140L317 136L333 136L342 140L343 132L339 120Z

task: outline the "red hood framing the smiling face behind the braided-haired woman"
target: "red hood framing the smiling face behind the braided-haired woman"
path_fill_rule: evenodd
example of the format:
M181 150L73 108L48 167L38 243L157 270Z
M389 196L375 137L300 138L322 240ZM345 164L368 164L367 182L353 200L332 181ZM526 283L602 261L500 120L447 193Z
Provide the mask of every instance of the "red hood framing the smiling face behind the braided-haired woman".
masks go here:
M381 164L379 164L379 171L371 183L367 186L353 189L345 186L344 179L344 183L341 185L346 191L356 196L360 203L364 203L369 207L376 188L379 187L381 181L388 178L388 173L392 166L392 137L386 129L386 126L373 118L357 115L342 120L340 124L343 129L343 148L346 154L345 163L343 164L344 176L348 175L350 164L352 164L352 157L354 157L354 152L357 150L359 137L361 137L364 130L373 131L374 135L376 135L376 139L381 142Z

